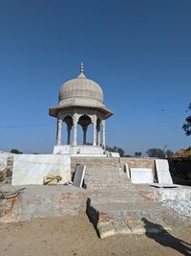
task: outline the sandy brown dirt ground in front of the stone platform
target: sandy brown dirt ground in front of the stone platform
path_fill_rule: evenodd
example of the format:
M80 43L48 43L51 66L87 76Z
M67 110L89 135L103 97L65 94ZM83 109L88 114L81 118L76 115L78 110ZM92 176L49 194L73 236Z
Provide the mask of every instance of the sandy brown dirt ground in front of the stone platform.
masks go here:
M60 218L0 223L0 256L191 255L191 226L160 235L100 240L83 213Z

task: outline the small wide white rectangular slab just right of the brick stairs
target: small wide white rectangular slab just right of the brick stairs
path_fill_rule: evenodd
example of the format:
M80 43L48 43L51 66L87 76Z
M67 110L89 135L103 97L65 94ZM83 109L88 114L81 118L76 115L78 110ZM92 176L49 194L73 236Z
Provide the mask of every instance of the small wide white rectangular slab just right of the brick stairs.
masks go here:
M153 171L148 168L131 168L132 183L152 183Z

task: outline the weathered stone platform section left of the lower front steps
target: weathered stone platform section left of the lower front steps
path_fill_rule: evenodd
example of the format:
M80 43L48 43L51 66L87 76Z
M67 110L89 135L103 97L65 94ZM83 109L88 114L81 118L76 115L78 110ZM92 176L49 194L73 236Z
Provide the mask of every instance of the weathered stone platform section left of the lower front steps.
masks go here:
M87 191L74 186L3 186L0 191L21 188L25 189L18 197L0 199L0 221L28 221L85 211Z

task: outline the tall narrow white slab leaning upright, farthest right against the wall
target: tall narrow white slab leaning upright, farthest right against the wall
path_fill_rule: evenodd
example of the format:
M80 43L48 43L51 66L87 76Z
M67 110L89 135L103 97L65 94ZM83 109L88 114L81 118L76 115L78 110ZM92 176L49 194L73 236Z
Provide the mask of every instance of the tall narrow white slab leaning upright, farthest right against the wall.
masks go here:
M155 163L159 183L173 184L173 180L169 172L168 161L166 159L156 159Z

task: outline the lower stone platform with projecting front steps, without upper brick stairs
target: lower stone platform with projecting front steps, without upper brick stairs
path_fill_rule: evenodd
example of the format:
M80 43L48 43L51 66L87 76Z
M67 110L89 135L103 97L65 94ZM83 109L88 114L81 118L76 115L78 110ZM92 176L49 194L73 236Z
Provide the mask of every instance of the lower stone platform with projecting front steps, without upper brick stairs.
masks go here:
M0 191L20 188L0 187ZM191 189L189 195L190 192ZM18 197L0 199L0 221L28 221L86 212L100 238L159 233L180 227L182 219L163 207L161 198L159 190L148 185L130 184L125 190L79 189L73 185L26 186ZM190 224L191 220L186 222Z

